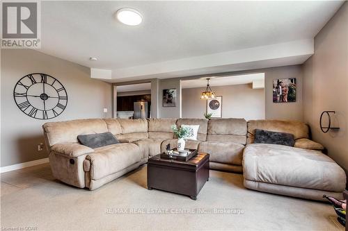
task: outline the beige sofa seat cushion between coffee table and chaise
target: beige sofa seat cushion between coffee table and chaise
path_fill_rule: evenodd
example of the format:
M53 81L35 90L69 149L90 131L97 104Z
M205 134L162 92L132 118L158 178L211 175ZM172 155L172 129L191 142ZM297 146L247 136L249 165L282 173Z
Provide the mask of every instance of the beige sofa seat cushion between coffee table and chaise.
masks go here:
M198 152L209 153L209 160L223 164L242 164L244 145L234 142L200 142Z

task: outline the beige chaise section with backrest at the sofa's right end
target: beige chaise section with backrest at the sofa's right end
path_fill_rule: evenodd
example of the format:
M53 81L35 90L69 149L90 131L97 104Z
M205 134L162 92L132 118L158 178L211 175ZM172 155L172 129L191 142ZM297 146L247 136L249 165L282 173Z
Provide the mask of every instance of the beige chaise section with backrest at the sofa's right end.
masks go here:
M253 144L255 129L290 133L294 135L294 147ZM345 171L321 152L321 144L308 138L308 126L298 121L248 121L244 187L312 200L324 200L324 194L342 198Z

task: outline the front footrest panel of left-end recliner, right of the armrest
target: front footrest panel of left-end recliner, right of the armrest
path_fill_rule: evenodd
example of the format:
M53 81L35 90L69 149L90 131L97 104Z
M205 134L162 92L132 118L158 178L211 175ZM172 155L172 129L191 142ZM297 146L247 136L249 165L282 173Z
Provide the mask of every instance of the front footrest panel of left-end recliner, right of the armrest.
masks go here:
M90 161L90 179L99 180L139 162L141 153L135 144L113 144L88 154L86 160Z

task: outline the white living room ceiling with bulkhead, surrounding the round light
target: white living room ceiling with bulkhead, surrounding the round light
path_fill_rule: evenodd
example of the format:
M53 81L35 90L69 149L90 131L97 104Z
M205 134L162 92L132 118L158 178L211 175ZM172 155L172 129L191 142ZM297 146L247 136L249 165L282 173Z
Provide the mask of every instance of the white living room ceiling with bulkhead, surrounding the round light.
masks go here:
M86 67L111 69L109 81L299 64L313 53L313 37L342 3L42 1L40 51ZM117 22L113 14L125 7L139 10L143 23ZM278 50L282 52L269 52ZM237 60L240 53L248 53L248 59ZM260 53L264 56L253 59ZM91 62L90 57L98 60ZM219 59L226 62L212 62ZM201 60L205 62L198 65Z

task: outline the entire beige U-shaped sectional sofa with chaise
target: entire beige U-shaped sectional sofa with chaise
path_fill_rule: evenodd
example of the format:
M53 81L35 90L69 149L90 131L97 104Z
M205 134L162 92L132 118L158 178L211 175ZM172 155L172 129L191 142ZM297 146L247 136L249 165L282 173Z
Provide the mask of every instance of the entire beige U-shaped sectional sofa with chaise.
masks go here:
M173 124L199 125L198 139L187 140L186 147L209 153L211 169L244 171L244 185L249 189L321 200L321 194L336 196L345 188L345 172L320 151L308 150L323 147L308 139L308 126L296 121L246 123L231 118L49 122L43 130L52 173L69 185L97 189L145 164L167 144L174 148L177 139L171 130ZM255 128L292 133L295 147L253 144ZM78 135L102 132L111 132L120 144L93 149L77 141ZM308 164L312 164L310 171L306 170Z

